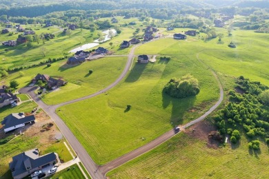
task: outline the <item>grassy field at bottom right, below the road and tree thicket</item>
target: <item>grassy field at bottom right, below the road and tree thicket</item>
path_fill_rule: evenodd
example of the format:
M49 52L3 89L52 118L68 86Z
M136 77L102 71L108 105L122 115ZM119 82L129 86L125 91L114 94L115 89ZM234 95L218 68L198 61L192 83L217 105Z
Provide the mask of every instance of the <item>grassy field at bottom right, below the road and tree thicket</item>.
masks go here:
M208 148L188 134L179 134L146 154L107 173L109 178L268 178L268 147L249 153L239 147Z

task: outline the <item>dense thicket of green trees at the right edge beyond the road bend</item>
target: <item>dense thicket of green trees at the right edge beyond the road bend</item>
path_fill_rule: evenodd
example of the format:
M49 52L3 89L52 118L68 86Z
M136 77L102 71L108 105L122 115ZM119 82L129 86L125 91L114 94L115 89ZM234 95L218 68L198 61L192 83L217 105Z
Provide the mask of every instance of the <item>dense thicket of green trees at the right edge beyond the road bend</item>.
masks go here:
M229 91L230 102L214 117L219 131L221 134L230 134L232 143L240 139L238 129L241 128L249 138L269 138L269 112L266 107L269 104L268 87L243 76L236 83L237 90L243 94ZM257 146L257 143L252 143L253 149L257 149Z

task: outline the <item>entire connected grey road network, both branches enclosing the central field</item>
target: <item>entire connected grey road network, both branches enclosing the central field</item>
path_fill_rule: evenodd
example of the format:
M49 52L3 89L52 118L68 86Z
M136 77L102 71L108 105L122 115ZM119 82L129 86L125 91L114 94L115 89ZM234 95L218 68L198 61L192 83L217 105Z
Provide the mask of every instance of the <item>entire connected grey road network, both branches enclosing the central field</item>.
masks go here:
M157 39L155 39L155 40L157 40ZM139 45L142 45L142 44L139 44ZM121 73L121 75L119 76L119 78L117 78L117 80L114 81L114 83L110 84L105 89L101 89L99 92L96 92L96 93L91 94L89 96L77 98L77 99L74 99L72 101L68 101L66 103L61 103L58 105L46 105L45 103L43 103L43 101L41 101L41 99L36 94L34 94L34 90L37 89L37 87L25 87L25 88L19 90L20 93L30 94L30 96L34 99L34 101L50 116L50 118L52 118L52 120L54 120L54 123L57 124L57 126L59 127L63 136L66 137L66 140L68 140L68 143L70 143L71 147L77 153L77 156L79 156L81 162L83 162L83 165L86 167L87 171L90 173L90 176L92 176L92 178L98 178L98 179L99 178L106 178L105 175L108 171L110 171L116 167L119 167L120 165L123 165L123 163L128 162L129 160L132 160L133 158L136 158L137 156L140 156L141 154L144 154L147 151L150 151L151 149L157 147L158 145L161 145L161 143L164 143L166 140L172 138L172 136L176 135L172 129L172 130L166 132L165 134L163 134L162 136L159 136L155 140L152 140L150 143L143 145L142 147L139 147L138 149L130 151L128 154L125 154L125 155L123 155L115 160L112 160L108 164L103 165L103 166L98 166L94 163L92 158L90 158L87 151L83 148L81 143L79 143L79 140L77 140L77 138L74 136L74 134L72 134L72 131L70 131L68 126L55 113L56 109L58 107L61 107L63 105L68 105L71 103L75 103L78 101L83 101L83 100L88 99L88 98L92 98L94 96L97 96L99 94L107 92L109 89L111 89L112 87L117 85L126 76L128 70L130 70L130 67L132 65L132 61L134 58L134 54L135 54L135 48L137 48L139 45L135 45L130 50L130 53L128 54L128 61L126 62L126 67L124 68L124 70ZM199 54L197 54L197 59L200 61ZM202 61L200 61L200 62L203 63ZM203 63L203 65L205 65L205 64ZM193 124L198 123L199 121L203 120L204 118L206 118L206 116L208 116L211 112L213 112L221 104L221 101L223 100L223 89L222 89L221 83L219 81L219 78L217 77L217 74L214 71L212 71L212 73L214 74L214 76L219 84L219 89L220 89L219 101L217 101L217 103L214 106L212 106L208 110L208 112L203 114L203 116L200 116L199 118L192 120L190 123L187 123L186 125L181 126L181 129L185 129L186 127L189 127L190 125L193 125Z

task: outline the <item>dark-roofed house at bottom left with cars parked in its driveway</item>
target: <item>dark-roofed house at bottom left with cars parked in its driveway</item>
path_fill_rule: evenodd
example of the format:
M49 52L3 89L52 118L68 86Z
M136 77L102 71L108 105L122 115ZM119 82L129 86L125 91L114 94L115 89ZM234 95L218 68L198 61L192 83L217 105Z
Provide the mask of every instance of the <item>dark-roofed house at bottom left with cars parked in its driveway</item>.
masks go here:
M24 178L34 171L41 170L43 167L57 164L57 156L54 152L39 156L38 149L31 149L12 157L10 170L14 179Z

